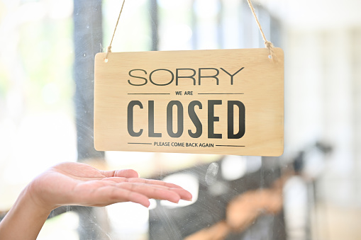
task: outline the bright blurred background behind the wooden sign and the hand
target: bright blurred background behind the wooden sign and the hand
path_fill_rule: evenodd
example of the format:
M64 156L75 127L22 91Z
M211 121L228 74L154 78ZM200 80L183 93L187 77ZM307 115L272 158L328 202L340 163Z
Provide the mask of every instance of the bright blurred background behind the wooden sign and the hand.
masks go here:
M38 239L360 239L361 1L252 2L267 40L284 50L279 158L96 152L94 55L109 45L122 1L0 0L0 219L46 168L82 161L134 168L195 198L150 210L65 207ZM245 0L133 0L112 51L253 47L264 45ZM257 217L240 210L250 223L229 227L237 197L279 179L282 207L268 210L267 197Z

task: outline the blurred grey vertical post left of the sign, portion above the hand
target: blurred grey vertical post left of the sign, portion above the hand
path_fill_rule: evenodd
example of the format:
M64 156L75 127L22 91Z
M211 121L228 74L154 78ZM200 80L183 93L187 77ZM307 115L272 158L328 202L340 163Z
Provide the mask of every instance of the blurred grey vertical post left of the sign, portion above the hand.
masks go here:
M101 0L74 0L74 103L78 161L104 159L94 149L94 57L101 52Z

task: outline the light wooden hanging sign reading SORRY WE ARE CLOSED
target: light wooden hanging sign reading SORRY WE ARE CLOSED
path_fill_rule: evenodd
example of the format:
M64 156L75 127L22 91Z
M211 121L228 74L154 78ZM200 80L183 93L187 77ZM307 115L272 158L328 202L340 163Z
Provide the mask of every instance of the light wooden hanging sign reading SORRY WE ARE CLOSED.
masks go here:
M279 156L284 55L268 51L111 52L95 58L101 151Z

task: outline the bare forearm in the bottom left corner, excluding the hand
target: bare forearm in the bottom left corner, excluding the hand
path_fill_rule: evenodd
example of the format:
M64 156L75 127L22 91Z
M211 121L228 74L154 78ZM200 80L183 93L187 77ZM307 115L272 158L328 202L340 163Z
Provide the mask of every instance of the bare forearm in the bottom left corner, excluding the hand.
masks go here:
M25 188L0 222L0 239L36 239L50 212L50 208L35 203Z

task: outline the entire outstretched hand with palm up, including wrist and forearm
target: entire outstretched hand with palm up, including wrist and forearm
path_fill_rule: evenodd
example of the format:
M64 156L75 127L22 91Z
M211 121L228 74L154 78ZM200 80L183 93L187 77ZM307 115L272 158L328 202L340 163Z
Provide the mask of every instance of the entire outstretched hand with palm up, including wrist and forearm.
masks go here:
M0 239L33 240L51 210L62 205L106 206L149 198L178 202L191 193L178 185L138 178L134 170L101 171L87 164L62 163L40 174L21 192L0 222Z

